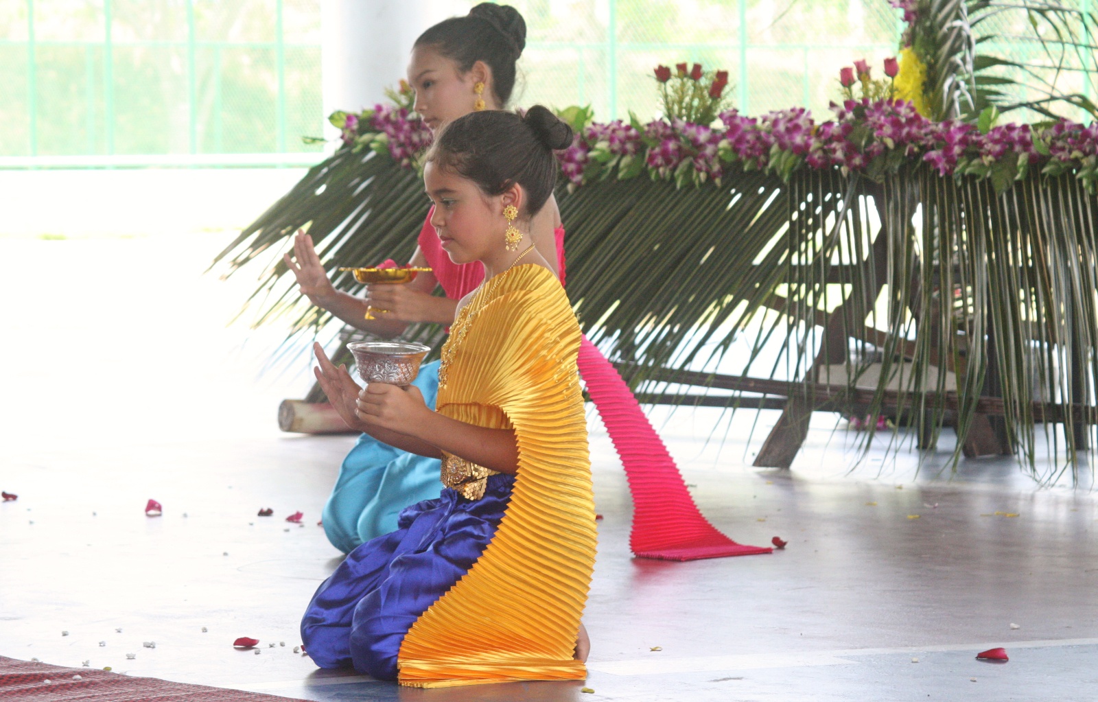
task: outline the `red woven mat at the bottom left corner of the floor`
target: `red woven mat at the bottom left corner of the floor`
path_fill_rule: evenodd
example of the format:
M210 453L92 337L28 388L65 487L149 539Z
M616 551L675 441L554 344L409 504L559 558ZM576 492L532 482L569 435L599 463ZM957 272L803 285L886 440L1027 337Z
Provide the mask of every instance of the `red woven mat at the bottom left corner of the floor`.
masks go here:
M74 680L79 676L79 680ZM0 700L35 702L304 702L272 694L131 678L94 668L61 668L0 656Z

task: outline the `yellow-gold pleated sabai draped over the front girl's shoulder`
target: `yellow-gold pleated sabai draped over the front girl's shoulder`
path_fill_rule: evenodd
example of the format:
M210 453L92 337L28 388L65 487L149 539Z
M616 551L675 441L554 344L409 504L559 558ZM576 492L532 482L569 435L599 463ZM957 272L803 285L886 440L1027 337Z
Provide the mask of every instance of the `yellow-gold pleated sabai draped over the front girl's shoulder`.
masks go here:
M572 656L596 534L580 328L560 282L540 266L501 274L480 294L489 297L470 303L479 312L452 349L438 411L514 427L517 479L491 544L405 636L400 681L583 679Z

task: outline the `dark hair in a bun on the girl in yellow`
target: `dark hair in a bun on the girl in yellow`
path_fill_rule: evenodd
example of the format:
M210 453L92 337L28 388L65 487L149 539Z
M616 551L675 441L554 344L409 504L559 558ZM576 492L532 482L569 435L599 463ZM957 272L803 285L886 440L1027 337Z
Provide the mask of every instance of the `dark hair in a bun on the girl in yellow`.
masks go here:
M572 127L536 104L525 115L503 110L470 112L447 124L427 160L497 196L514 183L526 191L526 212L535 215L557 183L553 149L572 144Z

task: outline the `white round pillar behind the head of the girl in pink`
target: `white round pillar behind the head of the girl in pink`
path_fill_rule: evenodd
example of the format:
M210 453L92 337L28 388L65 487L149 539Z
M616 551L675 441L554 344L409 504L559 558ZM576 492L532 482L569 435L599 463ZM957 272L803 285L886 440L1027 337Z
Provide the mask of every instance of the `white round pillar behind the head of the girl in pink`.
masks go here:
M322 0L324 115L384 99L404 77L412 43L432 24L469 11L457 0ZM335 134L335 130L329 136Z

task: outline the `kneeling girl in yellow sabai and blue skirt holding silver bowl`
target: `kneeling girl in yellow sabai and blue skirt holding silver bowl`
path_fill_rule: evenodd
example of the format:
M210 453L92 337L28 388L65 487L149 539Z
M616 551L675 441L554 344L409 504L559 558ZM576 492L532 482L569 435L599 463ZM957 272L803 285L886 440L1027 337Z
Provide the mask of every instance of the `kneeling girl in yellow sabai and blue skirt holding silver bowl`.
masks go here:
M316 347L317 378L345 421L441 458L446 484L317 590L302 637L322 667L416 687L586 675L580 617L595 514L580 328L528 235L556 182L552 149L571 138L537 105L462 116L428 153L441 245L453 263L485 269L442 348L437 411L414 386L359 391Z

